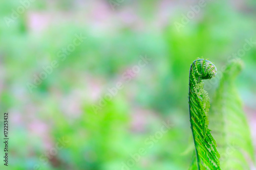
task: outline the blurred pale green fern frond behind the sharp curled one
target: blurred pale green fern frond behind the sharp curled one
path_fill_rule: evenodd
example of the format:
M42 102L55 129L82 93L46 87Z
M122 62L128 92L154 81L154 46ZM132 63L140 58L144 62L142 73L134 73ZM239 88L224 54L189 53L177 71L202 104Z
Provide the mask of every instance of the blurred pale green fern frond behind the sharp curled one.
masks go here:
M250 129L234 85L241 69L241 62L227 66L210 111L212 135L218 143L220 164L224 170L250 169L250 163L254 162Z

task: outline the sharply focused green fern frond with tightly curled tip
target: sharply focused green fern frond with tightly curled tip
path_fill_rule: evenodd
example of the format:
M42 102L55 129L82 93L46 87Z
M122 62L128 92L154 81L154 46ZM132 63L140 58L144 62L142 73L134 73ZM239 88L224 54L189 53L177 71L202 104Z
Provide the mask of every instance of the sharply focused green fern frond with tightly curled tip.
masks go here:
M214 78L217 68L208 60L197 59L189 73L189 116L196 148L197 168L220 169L217 144L208 129L209 96L202 80ZM195 163L193 163L195 166ZM191 168L190 168L191 169Z

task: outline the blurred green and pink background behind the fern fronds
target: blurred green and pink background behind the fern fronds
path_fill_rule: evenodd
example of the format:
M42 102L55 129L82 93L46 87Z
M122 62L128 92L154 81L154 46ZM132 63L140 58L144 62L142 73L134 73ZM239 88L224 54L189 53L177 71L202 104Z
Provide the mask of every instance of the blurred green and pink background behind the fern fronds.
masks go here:
M204 2L195 12L198 1L2 0L0 141L4 112L10 141L8 167L0 144L0 168L187 169L190 64L204 57L221 70L245 39L254 43L238 57L245 66L237 87L256 145L256 2ZM75 34L87 38L62 61ZM151 60L134 74L142 56ZM30 91L52 61L58 66ZM205 81L211 98L218 81ZM123 88L95 112L118 82ZM163 122L172 125L165 133ZM69 142L56 150L62 138Z

